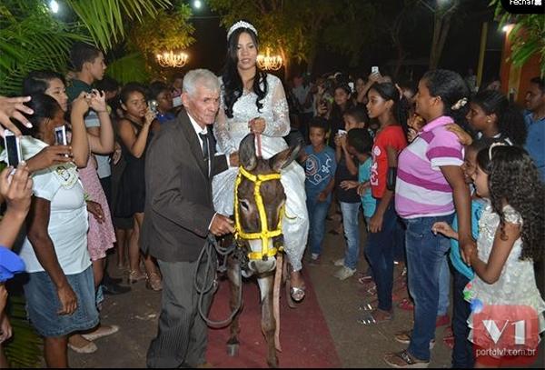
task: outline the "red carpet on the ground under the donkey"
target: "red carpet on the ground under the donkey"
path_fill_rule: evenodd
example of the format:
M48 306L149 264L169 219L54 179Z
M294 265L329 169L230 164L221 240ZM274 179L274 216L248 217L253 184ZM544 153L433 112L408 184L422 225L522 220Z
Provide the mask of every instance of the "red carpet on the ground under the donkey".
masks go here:
M280 367L341 367L341 361L333 345L332 337L318 305L312 283L304 276L307 286L306 296L297 308L288 307L281 290L281 331L282 352L277 352ZM267 347L261 332L261 308L259 287L255 280L243 285L243 312L240 314L241 333L239 335L239 354L227 355L226 342L229 327L209 329L208 352L206 358L215 367L268 367ZM212 305L213 320L224 319L229 315L229 282L223 281Z

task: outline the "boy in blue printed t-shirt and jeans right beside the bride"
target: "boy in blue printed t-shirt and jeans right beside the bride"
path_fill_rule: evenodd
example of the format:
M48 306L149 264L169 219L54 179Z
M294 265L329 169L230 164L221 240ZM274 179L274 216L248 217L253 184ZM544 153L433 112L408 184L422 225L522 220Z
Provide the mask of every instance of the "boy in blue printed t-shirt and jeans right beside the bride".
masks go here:
M311 264L320 264L325 217L332 204L332 190L335 185L337 162L335 152L326 145L328 123L325 118L314 117L309 125L311 145L304 148L301 163L305 169L305 192L309 213L309 244L311 246Z

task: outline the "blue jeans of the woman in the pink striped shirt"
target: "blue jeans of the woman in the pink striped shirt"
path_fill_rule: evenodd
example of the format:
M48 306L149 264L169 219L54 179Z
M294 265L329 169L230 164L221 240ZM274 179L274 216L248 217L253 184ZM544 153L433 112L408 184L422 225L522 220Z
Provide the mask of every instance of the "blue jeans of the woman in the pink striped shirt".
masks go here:
M414 326L408 351L423 361L430 360L430 341L435 337L435 317L439 303L441 265L451 247L442 235L433 235L436 222L451 224L453 215L405 219L405 244L409 292L414 300Z

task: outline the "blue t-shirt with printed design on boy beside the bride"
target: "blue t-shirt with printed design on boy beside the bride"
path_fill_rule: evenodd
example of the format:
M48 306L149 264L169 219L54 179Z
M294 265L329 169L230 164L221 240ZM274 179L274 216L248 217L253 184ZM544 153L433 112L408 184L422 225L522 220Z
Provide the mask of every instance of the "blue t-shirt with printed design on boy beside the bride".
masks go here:
M304 163L304 187L308 199L314 200L329 184L335 171L337 170L337 162L335 161L335 151L325 145L322 152L315 153L312 145L307 145L304 148L304 153L308 155ZM331 201L331 193L327 197L327 201Z

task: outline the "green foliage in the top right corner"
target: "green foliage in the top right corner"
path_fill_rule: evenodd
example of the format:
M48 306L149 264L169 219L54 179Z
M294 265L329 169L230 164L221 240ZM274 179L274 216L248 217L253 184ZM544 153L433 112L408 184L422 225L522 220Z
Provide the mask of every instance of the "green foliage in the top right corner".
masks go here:
M521 67L533 55L540 55L541 76L545 75L545 16L512 15L501 6L500 0L492 0L495 16L500 20L500 27L514 24L510 31L511 55L508 58L513 65Z

